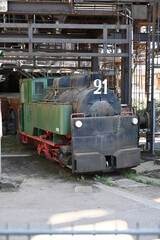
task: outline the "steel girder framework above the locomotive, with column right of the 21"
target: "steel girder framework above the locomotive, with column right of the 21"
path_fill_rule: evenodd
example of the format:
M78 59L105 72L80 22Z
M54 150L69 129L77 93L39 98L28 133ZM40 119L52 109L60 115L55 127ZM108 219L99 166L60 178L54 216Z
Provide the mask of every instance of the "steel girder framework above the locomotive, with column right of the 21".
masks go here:
M122 103L131 106L132 4L7 1L5 6L0 19L3 62L27 72L78 68L93 75L106 70L106 62L114 62L114 72L122 62Z

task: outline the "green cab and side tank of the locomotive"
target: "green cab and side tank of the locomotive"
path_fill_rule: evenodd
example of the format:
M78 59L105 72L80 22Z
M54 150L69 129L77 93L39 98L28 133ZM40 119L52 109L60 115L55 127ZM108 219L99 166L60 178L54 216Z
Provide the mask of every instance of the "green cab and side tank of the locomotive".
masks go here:
M50 88L46 84L47 80L48 78L36 78L20 81L20 131L33 136L40 136L49 131L53 133L54 143L62 143L63 136L71 134L72 105L41 102L45 91Z

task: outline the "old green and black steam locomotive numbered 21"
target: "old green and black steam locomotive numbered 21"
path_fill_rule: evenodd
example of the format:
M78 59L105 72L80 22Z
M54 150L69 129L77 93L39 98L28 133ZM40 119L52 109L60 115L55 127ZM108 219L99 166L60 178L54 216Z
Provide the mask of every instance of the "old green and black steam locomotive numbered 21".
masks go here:
M122 115L118 97L101 83L85 74L20 80L21 141L76 173L139 165L138 119Z

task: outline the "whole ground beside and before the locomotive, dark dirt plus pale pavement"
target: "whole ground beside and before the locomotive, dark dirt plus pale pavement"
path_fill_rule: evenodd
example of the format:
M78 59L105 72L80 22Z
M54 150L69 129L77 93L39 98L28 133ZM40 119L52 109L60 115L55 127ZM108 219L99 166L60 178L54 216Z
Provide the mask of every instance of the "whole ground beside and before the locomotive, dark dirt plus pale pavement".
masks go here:
M4 141L3 153L14 154L14 149L7 150L6 144ZM31 149L18 148L18 153L24 152L31 156L2 158L3 180L16 183L18 188L0 192L1 229L6 223L9 228L27 228L30 224L31 228L38 229L51 226L74 230L128 229L135 228L137 222L140 228L158 227L159 187L137 186L136 182L133 186L129 183L129 187L109 187L96 183L94 176L73 175L56 163L38 157Z

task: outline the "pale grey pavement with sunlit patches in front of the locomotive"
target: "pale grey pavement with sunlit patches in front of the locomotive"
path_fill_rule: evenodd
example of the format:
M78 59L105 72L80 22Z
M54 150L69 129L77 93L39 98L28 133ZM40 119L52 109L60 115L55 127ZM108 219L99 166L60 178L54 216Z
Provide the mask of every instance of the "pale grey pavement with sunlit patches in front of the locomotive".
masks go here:
M75 192L77 186L81 187L79 192ZM86 186L93 192L87 193ZM1 228L5 223L9 228L26 228L29 223L31 228L51 225L66 230L124 230L135 228L136 223L141 228L156 228L160 191L155 187L120 189L36 177L26 178L18 192L1 192L0 206Z

